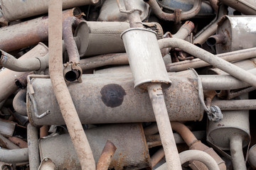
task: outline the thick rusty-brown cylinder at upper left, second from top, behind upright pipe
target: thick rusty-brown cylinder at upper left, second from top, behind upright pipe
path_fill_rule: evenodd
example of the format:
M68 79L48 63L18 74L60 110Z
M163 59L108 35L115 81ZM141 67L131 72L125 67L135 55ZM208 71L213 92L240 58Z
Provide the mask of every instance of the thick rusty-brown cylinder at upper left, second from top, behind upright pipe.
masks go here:
M24 3L24 1L19 2ZM15 9L14 6L11 6L11 8ZM63 19L69 16L80 16L80 13L79 8L68 9L63 11ZM48 16L41 16L40 18L18 23L13 26L0 28L0 35L0 49L5 52L36 45L38 42L46 42L48 41Z

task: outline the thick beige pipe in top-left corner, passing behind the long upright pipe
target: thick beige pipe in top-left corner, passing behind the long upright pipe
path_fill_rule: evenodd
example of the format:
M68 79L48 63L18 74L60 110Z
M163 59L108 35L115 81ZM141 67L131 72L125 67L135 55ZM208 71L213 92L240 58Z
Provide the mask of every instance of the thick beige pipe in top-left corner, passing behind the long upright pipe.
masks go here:
M63 0L63 9L97 4L98 1L99 0ZM48 13L48 0L43 0L37 3L33 0L0 0L0 2L4 18L6 18L7 21L14 21L17 19Z

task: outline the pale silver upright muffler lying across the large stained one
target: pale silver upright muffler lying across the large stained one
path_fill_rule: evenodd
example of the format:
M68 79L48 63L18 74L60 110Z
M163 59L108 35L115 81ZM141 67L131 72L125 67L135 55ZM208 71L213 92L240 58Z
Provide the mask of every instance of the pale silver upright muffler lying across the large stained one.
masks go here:
M134 88L150 82L171 83L154 31L130 28L121 37L132 69Z

